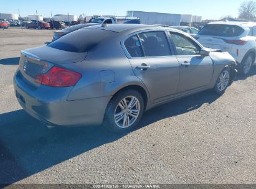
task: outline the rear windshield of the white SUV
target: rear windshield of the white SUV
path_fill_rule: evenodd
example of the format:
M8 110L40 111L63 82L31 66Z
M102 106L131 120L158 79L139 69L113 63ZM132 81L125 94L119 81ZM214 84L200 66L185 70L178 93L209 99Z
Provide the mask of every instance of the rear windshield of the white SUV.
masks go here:
M204 25L199 35L214 35L223 37L237 37L244 32L242 27L237 25L208 24Z

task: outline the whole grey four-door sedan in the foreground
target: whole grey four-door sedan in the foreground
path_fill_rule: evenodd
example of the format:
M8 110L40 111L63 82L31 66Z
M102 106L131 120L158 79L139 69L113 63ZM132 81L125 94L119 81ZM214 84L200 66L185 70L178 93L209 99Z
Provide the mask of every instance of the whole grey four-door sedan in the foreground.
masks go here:
M237 71L229 53L188 34L139 24L94 25L21 52L16 97L50 126L135 128L143 112L189 94L224 93Z

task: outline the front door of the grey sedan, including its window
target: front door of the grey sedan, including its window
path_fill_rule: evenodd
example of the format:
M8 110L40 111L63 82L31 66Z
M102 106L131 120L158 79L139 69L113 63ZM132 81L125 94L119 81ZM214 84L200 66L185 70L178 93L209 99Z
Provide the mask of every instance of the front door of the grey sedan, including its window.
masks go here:
M201 56L201 47L186 35L170 32L180 63L178 92L201 90L209 86L214 65L211 57Z

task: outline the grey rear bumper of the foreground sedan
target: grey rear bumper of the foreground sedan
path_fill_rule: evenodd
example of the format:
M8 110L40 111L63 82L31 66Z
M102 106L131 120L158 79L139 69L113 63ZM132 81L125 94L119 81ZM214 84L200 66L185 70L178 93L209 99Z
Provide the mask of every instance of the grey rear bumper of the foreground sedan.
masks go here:
M102 124L111 96L67 101L71 88L34 88L19 75L14 75L16 98L32 117L54 126Z

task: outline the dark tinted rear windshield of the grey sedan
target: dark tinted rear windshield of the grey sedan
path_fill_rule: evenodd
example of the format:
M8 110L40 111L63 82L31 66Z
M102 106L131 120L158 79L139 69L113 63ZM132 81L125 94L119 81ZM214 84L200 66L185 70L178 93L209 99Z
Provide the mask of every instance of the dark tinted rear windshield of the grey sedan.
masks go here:
M110 30L84 28L64 35L48 44L48 46L68 52L88 52L113 34L115 32Z

